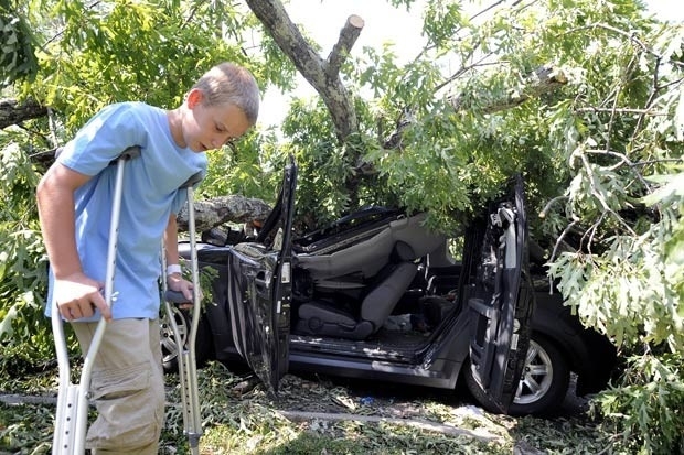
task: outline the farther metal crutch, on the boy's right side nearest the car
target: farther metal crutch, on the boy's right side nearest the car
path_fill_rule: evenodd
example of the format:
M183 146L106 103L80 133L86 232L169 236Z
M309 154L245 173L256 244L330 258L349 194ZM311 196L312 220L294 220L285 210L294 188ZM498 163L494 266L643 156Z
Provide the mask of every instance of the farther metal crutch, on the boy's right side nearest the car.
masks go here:
M195 357L195 340L200 323L200 271L197 266L197 245L195 239L195 213L193 185L202 180L202 174L196 173L185 182L181 188L188 189L188 230L190 234L190 270L192 273L192 316L190 333L185 336L179 331L173 316L172 303L188 303L188 299L181 292L170 291L167 284L167 256L162 240L161 268L162 292L164 308L175 344L178 346L178 373L181 386L181 402L183 404L183 432L188 436L188 444L193 455L200 453L200 437L202 437L202 415L200 413L200 393L197 390L197 366Z

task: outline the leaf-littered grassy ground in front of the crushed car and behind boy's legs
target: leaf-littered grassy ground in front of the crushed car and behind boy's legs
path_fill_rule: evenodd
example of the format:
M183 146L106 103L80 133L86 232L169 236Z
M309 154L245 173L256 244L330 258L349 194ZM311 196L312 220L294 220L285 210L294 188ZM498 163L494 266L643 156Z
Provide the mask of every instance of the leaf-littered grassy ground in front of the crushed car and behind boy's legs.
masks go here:
M162 454L188 453L179 386L169 376ZM221 364L199 371L202 454L619 454L611 435L587 415L514 419L489 414L443 391L348 387L288 375L278 399ZM56 371L3 378L4 394L54 397ZM53 403L0 404L0 455L50 453ZM324 418L322 415L329 415ZM456 432L462 432L456 433ZM526 451L526 452L525 452Z

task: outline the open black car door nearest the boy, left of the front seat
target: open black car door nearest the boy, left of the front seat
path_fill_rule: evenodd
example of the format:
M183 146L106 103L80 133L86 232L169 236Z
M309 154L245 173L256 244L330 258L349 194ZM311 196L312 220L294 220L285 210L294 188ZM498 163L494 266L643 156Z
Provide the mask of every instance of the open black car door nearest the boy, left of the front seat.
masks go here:
M252 370L277 393L289 358L292 213L297 165L290 156L276 206L254 242L231 249L228 307L233 342Z

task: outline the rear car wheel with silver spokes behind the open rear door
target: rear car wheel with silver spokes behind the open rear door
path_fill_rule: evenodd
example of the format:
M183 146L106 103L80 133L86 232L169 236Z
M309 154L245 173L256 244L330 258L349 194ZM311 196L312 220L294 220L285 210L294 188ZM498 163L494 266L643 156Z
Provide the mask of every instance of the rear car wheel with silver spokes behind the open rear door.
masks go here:
M480 388L470 365L466 384L473 398L490 412L501 412ZM568 390L570 369L563 353L547 338L532 334L517 392L509 409L511 415L549 414L557 411Z

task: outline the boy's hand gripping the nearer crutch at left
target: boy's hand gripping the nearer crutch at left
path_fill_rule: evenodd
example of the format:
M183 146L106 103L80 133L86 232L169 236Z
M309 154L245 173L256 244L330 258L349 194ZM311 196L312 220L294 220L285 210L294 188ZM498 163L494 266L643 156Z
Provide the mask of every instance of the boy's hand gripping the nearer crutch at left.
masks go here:
M67 321L90 317L98 308L106 321L111 321L111 308L107 306L101 294L104 284L86 277L73 273L63 279L55 279L54 299L60 313Z

